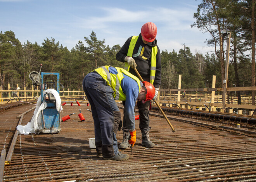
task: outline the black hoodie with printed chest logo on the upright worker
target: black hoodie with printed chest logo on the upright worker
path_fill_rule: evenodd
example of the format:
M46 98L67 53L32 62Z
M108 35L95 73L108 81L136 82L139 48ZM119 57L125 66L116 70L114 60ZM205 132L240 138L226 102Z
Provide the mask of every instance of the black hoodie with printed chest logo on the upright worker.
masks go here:
M125 57L127 56L128 49L130 46L132 36L127 39L123 47L120 49L120 51L116 54L116 60L125 62ZM140 46L142 49L140 50L140 53L138 53ZM140 76L143 78L144 81L149 82L150 80L150 66L151 66L151 51L152 47L157 46L157 40L155 39L153 42L150 42L148 44L144 44L142 41L141 34L138 37L138 40L135 44L135 47L133 49L132 57L135 60L137 64L137 70L140 73ZM144 48L145 47L145 48ZM159 88L161 84L161 56L160 56L160 50L157 46L157 54L156 54L156 75L154 80L154 87ZM142 57L146 58L143 59ZM133 68L130 68L129 72L135 76L138 77L136 72L133 70Z

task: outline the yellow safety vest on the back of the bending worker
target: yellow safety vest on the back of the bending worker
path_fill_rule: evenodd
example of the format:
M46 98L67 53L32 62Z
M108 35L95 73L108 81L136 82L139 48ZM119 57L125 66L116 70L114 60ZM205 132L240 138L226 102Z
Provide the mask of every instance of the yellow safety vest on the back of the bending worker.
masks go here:
M104 80L106 80L107 85L109 85L114 90L113 97L115 100L126 100L126 95L123 93L123 89L121 88L121 81L124 78L123 73L128 77L131 77L133 80L135 80L138 83L138 87L140 90L139 78L135 77L125 69L118 68L118 67L115 67L118 72L117 75L113 73L109 73L109 67L112 67L112 66L101 66L93 71L96 71L97 73L99 73L99 75L102 76Z

